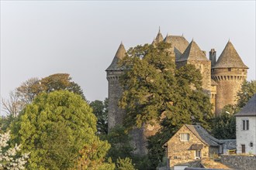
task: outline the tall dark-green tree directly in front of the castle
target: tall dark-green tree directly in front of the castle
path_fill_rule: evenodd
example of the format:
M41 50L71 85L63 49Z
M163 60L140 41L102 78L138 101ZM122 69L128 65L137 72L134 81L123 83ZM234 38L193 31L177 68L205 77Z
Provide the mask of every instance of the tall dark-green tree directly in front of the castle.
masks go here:
M209 97L202 90L202 75L195 66L175 68L171 45L136 46L120 63L123 96L119 106L126 110L125 127L161 124L160 132L149 138L150 167L156 168L164 155L162 146L183 124L210 128L213 117Z

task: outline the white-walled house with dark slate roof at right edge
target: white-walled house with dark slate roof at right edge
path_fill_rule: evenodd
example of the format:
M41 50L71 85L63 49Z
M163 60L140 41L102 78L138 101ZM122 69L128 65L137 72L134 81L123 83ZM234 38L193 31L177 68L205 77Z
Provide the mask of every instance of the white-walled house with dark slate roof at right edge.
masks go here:
M237 154L256 155L256 94L235 117Z

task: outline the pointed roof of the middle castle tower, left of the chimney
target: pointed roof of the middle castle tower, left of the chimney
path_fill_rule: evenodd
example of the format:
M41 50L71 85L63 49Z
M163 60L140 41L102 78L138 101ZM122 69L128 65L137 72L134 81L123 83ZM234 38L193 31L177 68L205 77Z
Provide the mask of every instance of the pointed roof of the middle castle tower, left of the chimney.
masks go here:
M194 40L189 43L189 46L185 49L185 52L178 59L178 61L186 60L208 60L206 54L202 52L199 46L195 43Z

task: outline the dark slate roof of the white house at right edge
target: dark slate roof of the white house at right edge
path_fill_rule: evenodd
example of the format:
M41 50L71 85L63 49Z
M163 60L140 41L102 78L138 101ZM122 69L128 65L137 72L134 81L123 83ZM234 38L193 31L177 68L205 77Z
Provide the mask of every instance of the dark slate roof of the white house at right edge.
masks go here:
M256 94L247 102L247 104L237 113L236 117L256 116Z

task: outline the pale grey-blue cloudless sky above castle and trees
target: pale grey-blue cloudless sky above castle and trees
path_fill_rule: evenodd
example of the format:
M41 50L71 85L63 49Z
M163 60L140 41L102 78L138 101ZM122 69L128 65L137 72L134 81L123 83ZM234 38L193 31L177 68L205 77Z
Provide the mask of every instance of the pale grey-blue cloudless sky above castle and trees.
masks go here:
M163 36L202 50L228 40L255 80L255 1L1 1L1 97L32 77L69 73L87 100L108 96L106 68L126 49Z

